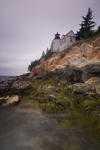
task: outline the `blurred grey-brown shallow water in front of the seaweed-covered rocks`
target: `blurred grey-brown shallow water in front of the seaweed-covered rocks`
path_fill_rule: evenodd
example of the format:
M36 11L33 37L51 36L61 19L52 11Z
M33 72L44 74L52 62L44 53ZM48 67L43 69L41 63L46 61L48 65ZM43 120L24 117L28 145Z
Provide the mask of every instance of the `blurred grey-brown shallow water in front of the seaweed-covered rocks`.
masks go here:
M99 150L78 126L62 127L70 114L45 115L39 110L0 110L0 150ZM95 148L96 147L96 148Z

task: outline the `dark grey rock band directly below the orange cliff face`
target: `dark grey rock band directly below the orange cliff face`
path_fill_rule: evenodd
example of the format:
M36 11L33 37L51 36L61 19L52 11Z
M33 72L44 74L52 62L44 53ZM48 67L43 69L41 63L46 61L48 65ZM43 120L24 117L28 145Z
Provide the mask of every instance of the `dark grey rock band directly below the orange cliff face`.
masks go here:
M55 69L48 73L48 76L58 76L70 82L86 82L90 78L100 78L100 63L88 64L82 68L66 66L64 69Z

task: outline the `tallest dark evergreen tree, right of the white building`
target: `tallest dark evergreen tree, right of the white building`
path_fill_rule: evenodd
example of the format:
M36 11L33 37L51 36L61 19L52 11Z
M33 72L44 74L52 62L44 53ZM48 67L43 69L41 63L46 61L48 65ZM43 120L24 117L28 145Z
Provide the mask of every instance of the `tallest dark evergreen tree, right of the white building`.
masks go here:
M88 12L86 16L83 16L82 23L80 24L80 31L77 32L77 39L88 38L93 35L93 27L95 27L96 23L93 21L93 12L90 8L88 8Z

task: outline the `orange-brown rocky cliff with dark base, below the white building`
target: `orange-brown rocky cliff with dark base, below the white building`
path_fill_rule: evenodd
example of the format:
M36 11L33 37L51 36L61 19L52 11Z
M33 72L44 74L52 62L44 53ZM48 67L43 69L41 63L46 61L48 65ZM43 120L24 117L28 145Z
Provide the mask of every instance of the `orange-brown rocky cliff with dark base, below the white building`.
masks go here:
M32 69L29 77L56 70L63 70L66 78L73 81L86 82L92 77L96 77L92 80L97 80L100 77L100 36L78 41L47 60L41 59L40 65Z

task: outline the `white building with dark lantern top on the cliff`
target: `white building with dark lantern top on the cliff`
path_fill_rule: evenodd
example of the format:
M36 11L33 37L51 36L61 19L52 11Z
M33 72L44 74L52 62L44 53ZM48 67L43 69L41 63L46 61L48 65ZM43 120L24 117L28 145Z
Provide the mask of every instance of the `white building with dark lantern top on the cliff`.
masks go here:
M63 35L60 38L60 34L55 34L55 38L53 39L51 43L51 50L53 52L64 50L65 48L69 47L76 41L76 35L71 30L66 35Z

